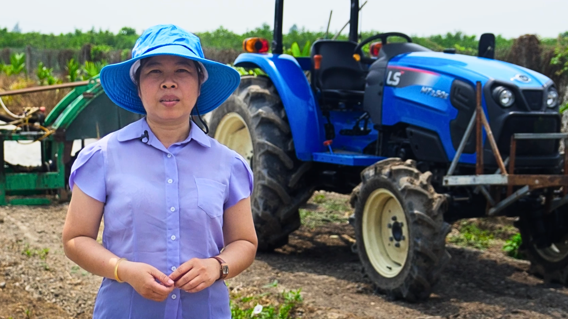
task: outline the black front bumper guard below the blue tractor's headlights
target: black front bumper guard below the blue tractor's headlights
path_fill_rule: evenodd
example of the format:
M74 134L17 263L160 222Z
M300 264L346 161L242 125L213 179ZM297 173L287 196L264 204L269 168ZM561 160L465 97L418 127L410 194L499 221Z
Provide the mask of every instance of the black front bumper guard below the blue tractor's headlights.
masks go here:
M497 146L503 158L509 156L514 133L558 133L557 116L512 114L504 121ZM557 140L518 140L517 156L550 156L558 153Z

